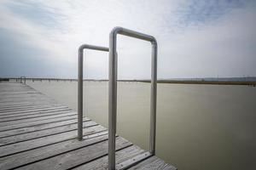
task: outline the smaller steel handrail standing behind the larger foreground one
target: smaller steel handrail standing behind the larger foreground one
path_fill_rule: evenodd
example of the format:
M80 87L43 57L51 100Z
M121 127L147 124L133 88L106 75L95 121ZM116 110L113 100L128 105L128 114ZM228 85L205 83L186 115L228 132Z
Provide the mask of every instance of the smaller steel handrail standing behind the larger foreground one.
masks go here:
M83 59L84 49L108 52L108 48L83 44L79 47L79 81L78 81L78 139L83 139Z

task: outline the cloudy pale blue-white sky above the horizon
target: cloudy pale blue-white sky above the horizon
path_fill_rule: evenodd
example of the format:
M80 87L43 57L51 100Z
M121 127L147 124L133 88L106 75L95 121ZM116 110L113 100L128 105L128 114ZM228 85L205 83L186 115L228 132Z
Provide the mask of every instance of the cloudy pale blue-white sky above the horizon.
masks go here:
M158 41L158 78L256 76L253 0L0 0L0 77L77 78L78 48L122 26ZM150 42L118 36L118 78L150 78ZM84 77L108 53L84 51Z

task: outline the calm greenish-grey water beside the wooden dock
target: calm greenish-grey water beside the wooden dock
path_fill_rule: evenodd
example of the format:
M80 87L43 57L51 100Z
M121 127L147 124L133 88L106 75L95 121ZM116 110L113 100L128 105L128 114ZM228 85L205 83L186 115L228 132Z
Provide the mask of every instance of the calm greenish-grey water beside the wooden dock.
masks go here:
M77 110L77 82L28 82ZM148 150L150 84L118 83L118 133ZM256 167L256 88L158 84L156 155L183 170ZM84 83L84 116L108 127L108 82Z

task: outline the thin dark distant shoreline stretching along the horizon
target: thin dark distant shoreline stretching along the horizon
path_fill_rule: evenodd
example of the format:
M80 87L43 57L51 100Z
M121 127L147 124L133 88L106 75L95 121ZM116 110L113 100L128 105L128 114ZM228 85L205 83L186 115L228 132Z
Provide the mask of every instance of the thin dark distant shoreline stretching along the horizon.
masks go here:
M64 81L64 82L76 82L78 81L77 79L67 79L67 78L26 78L28 81L39 81L39 82L59 82L59 81ZM0 77L0 82L3 81L12 81L12 82L20 82L20 78L15 78L15 77L9 77L9 78L1 78ZM106 79L84 79L84 81L89 81L89 82L108 82ZM150 82L150 80L118 80L118 82ZM247 86L254 86L256 87L256 81L221 81L221 80L214 80L214 81L208 81L204 79L196 79L196 80L158 80L158 83L173 83L173 84L212 84L212 85L247 85Z

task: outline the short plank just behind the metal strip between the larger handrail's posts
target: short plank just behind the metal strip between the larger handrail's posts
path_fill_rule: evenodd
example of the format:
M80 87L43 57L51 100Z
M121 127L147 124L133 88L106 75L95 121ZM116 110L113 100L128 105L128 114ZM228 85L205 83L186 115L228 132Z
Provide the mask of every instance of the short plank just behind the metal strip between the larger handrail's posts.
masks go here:
M120 164L123 161L127 161L132 157L135 157L139 154L143 154L145 150L142 150L140 147L136 145L131 145L128 148L123 150L119 150L116 152L116 163ZM0 160L1 161L1 160ZM95 161L90 161L85 163L79 167L73 168L73 170L106 170L108 169L108 156L104 156L102 158L96 159Z

